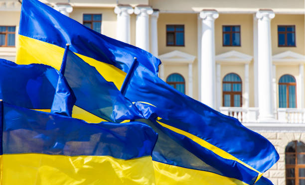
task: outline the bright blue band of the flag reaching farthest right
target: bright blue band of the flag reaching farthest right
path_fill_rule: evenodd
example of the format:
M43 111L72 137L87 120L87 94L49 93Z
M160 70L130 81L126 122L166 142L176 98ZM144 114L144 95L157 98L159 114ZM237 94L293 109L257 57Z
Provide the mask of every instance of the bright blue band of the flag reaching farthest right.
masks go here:
M203 139L259 172L265 172L278 161L274 146L237 119L171 88L140 63L129 73L132 77L122 89L146 117L158 116L162 123Z

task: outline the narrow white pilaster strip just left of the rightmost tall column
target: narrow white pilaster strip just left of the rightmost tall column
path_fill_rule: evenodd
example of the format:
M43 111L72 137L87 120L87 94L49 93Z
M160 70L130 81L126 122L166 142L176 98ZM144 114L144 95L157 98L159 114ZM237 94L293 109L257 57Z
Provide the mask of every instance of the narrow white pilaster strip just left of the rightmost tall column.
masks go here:
M256 14L253 14L253 75L255 107L258 107L257 21Z

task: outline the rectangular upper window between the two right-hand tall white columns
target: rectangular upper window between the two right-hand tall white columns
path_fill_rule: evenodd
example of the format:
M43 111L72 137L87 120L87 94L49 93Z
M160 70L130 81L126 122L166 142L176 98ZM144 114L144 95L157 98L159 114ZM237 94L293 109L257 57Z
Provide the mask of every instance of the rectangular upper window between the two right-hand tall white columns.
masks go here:
M222 26L222 45L240 46L240 26Z

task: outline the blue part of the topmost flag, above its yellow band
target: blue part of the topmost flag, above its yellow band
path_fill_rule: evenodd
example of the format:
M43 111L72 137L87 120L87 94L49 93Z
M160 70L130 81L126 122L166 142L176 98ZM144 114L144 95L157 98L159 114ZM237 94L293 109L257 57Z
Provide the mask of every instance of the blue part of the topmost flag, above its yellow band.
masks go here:
M38 0L23 0L19 35L65 48L128 72L134 57L158 72L160 60L133 45L102 35Z

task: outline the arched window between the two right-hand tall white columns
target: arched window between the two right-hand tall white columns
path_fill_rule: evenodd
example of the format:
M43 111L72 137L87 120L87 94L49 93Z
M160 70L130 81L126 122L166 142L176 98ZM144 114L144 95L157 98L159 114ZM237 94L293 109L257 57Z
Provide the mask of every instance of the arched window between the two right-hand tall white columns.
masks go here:
M223 106L242 105L242 82L238 75L230 73L222 81Z

